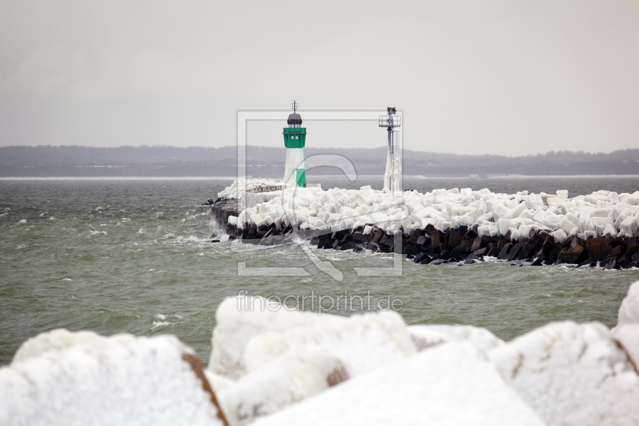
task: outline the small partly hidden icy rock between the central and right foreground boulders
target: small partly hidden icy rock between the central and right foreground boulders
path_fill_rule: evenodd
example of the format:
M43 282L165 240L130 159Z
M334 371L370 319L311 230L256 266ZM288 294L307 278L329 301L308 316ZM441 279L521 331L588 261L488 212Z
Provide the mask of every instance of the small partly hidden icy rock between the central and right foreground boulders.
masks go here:
M480 351L502 346L504 340L481 327L451 325L412 325L406 328L417 350L447 342L470 342Z

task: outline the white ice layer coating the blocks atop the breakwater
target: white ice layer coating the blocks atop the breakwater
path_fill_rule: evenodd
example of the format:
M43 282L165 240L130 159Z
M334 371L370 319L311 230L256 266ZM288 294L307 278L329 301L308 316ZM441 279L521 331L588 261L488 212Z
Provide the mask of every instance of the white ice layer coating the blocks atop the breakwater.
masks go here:
M242 185L254 187L273 182L235 181L219 194L239 198ZM229 222L240 227L246 223L274 223L279 228L292 225L332 232L366 224L389 232L424 229L429 224L439 231L476 224L481 236L505 236L510 231L511 239L518 241L537 229L550 232L555 241L563 243L574 235L583 240L589 236L633 236L639 228L639 191L617 194L601 190L569 198L566 190L548 195L527 191L495 194L486 188L436 189L425 194L378 191L370 186L359 190L295 188L263 197L262 202L248 206Z

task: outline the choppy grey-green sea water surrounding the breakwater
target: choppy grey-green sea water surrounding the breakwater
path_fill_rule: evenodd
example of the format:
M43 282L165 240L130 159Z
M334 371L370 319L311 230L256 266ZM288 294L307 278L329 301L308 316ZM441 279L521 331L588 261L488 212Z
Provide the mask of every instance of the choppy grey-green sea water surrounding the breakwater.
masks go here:
M380 177L309 176L327 187L379 188ZM341 271L318 270L298 245L254 247L210 243L218 231L199 204L230 180L3 180L0 181L0 365L20 344L54 328L104 335L173 333L204 361L211 351L215 309L239 291L250 295L371 295L409 324L472 324L509 340L550 321L616 323L617 309L638 270L578 270L566 266L472 266L401 263L399 277L360 277L353 267L391 268L387 254L312 250ZM528 190L570 196L599 189L635 192L639 178L404 178L404 188ZM26 224L19 221L26 219ZM238 262L304 268L304 277L238 276ZM255 270L253 270L255 271ZM288 301L292 299L289 298ZM307 301L310 299L307 299ZM326 308L330 308L328 298ZM381 305L380 305L381 303ZM305 308L311 307L305 305ZM343 305L328 312L362 313ZM367 308L366 304L364 308ZM314 307L317 310L317 307Z

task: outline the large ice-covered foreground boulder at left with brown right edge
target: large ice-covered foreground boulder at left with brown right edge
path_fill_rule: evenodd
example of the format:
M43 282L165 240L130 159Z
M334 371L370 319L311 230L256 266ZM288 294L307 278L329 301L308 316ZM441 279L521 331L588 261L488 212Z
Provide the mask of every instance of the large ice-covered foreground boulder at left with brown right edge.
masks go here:
M222 425L201 367L171 335L52 331L0 368L0 424Z

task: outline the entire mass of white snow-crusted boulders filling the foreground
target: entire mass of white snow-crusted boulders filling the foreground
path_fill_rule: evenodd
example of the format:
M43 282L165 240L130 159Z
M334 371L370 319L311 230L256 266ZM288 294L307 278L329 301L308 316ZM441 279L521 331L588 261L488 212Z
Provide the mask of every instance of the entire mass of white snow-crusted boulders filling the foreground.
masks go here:
M638 296L635 282L613 330L565 321L507 343L227 298L204 372L172 335L54 330L0 368L0 425L220 425L204 374L229 426L639 426Z

